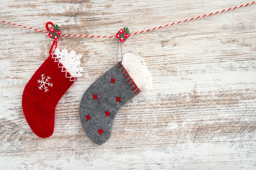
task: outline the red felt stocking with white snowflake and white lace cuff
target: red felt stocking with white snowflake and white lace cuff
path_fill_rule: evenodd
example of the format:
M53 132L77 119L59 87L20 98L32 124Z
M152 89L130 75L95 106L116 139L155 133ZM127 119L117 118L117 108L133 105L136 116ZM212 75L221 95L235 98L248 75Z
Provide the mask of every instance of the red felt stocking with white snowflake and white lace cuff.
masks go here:
M81 54L56 48L31 77L22 95L22 109L31 130L45 138L54 131L55 107L81 76Z

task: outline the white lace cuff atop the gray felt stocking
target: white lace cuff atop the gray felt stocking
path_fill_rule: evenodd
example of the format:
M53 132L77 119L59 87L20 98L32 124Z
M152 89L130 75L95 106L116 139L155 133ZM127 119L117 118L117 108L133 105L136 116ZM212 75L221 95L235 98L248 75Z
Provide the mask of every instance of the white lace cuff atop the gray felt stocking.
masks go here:
M153 77L143 58L126 53L122 65L140 90L152 88Z

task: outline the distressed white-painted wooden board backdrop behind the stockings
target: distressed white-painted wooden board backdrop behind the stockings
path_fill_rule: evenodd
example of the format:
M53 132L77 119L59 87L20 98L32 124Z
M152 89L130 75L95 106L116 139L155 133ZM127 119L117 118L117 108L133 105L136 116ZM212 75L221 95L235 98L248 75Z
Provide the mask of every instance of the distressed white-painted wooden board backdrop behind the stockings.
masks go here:
M132 33L247 0L1 0L0 19L65 34ZM249 1L250 2L250 1ZM54 134L41 139L22 92L48 57L45 33L0 23L0 169L256 169L256 4L130 37L123 51L148 63L153 89L118 112L98 146L82 129L85 90L115 65L117 41L61 37L81 53L83 76L58 102Z

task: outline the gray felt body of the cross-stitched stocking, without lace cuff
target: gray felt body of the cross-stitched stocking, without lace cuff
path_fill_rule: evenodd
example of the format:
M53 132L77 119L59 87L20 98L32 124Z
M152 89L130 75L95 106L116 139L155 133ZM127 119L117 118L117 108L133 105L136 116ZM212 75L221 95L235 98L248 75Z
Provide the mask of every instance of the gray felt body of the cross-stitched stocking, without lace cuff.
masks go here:
M86 90L81 99L80 120L92 142L100 145L110 138L117 111L136 96L138 90L121 62L101 75Z

